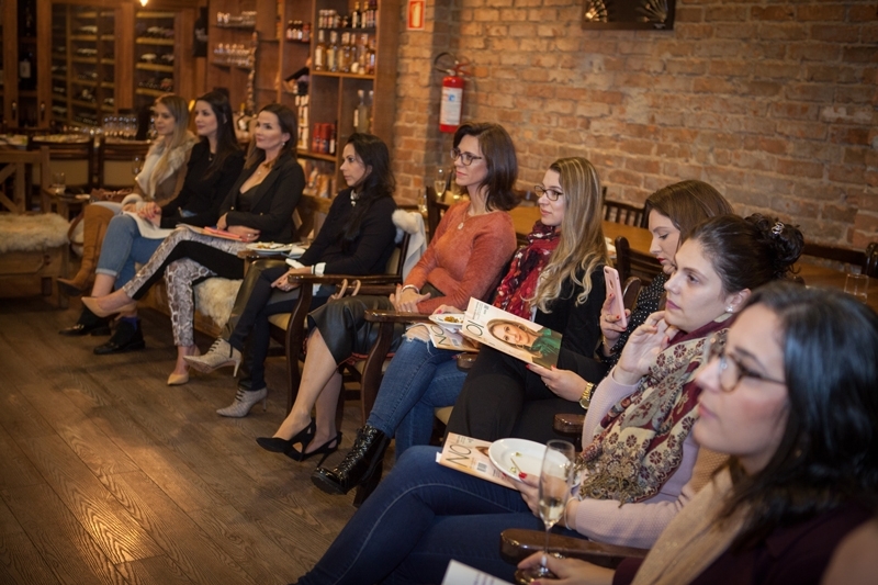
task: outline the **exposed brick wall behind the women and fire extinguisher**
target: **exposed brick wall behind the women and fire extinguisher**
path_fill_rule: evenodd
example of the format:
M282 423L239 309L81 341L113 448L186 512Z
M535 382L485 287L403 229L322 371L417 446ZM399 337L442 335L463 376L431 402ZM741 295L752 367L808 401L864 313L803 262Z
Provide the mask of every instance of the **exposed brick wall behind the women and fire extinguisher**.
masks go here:
M611 199L696 178L815 240L878 239L875 0L677 0L668 32L583 31L581 1L437 1L428 30L401 38L402 198L447 162L430 68L450 50L473 64L465 119L507 127L522 187L579 155Z

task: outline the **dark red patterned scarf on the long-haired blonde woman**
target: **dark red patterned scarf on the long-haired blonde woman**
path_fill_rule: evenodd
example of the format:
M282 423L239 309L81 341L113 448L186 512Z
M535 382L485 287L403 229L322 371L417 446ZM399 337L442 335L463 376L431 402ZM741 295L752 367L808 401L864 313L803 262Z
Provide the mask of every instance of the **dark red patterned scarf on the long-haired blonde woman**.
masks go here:
M528 234L528 244L515 252L509 271L503 277L494 306L508 311L521 318L530 319L531 307L529 299L533 299L540 272L549 261L549 257L558 248L560 233L542 222L533 224L533 230Z

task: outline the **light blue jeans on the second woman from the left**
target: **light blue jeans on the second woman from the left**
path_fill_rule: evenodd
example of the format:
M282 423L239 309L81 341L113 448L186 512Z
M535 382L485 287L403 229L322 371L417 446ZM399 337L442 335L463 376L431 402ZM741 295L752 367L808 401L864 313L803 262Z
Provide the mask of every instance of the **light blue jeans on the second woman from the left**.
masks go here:
M121 289L136 273L135 265L145 265L158 249L161 239L145 238L140 235L137 221L130 216L116 215L106 226L103 236L101 257L98 259L98 274L115 277L115 288Z

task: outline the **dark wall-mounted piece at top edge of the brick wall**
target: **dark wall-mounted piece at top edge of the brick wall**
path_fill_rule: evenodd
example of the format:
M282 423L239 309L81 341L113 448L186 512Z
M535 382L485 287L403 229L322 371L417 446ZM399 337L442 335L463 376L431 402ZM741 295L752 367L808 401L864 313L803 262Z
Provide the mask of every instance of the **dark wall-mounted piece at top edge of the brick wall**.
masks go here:
M676 0L583 0L583 29L674 29Z

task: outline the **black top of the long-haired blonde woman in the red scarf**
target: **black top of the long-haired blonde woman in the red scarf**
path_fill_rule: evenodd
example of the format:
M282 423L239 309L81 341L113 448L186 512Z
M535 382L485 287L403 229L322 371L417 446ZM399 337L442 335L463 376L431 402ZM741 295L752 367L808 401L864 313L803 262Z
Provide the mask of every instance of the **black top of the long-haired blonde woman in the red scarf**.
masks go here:
M582 279L582 273L577 277ZM561 288L561 296L549 304L551 313L538 310L533 320L562 335L559 363L575 362L576 373L589 382L598 382L607 368L590 356L600 340L600 307L607 296L603 265L592 272L592 291L585 303L577 306L576 296L581 291L579 285L567 279Z

